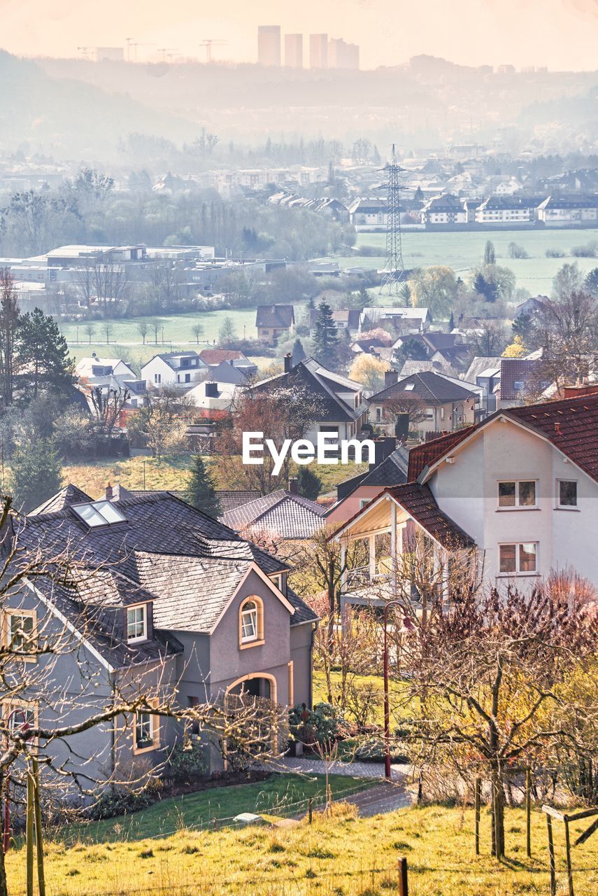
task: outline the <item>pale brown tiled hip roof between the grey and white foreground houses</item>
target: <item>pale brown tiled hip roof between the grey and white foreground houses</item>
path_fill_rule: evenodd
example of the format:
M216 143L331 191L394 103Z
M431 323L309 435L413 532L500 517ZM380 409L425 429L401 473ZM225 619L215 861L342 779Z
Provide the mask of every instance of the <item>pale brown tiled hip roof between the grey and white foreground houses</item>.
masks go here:
M289 486L292 490L279 488L269 495L260 495L234 510L226 511L221 521L235 532L267 531L278 538L293 541L312 538L326 522L323 519L326 508L297 495L296 480L295 486L293 482Z

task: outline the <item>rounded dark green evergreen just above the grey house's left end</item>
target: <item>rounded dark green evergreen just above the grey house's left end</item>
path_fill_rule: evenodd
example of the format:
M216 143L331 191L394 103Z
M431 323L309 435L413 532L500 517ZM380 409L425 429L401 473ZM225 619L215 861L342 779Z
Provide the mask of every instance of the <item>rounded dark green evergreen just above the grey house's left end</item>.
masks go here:
M50 439L20 444L11 458L10 491L13 505L29 513L62 487L60 459Z

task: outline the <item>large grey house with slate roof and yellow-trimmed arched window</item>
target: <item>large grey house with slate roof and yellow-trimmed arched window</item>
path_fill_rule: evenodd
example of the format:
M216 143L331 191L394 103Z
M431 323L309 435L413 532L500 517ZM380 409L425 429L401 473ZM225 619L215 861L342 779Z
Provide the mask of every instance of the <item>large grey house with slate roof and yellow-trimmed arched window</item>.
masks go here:
M288 564L174 495L115 497L108 487L93 500L65 487L30 513L19 547L24 559L71 556L68 578L23 582L2 620L3 632L23 617L45 639L69 632L72 652L37 658L42 672L55 663L61 723L86 719L119 690L182 711L242 691L311 704L317 617L288 587ZM40 726L56 717L46 697L28 695ZM56 768L106 780L137 757L164 762L183 734L174 719L139 711L48 749Z

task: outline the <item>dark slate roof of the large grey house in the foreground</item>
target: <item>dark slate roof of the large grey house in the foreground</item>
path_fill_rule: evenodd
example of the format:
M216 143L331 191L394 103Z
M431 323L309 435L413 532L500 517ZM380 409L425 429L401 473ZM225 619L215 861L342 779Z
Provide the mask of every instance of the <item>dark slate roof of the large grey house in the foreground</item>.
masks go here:
M74 488L62 491L78 500L83 495ZM22 519L19 534L23 556L39 550L47 558L59 552L71 558L74 572L67 582L64 576L57 582L43 576L36 587L75 627L84 628L115 668L181 650L170 630L209 632L253 563L267 575L288 569L175 495L121 492L113 503L126 522L88 529L61 494L47 502L63 504L60 509ZM292 592L288 599L296 609L291 625L317 618ZM154 639L129 645L123 607L149 600Z

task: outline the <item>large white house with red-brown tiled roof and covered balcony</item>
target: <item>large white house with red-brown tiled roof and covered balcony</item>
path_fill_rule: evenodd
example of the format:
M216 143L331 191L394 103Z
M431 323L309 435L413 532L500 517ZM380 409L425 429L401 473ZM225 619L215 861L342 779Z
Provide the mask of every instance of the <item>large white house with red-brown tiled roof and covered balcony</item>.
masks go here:
M403 551L419 534L435 562L475 559L485 582L532 589L573 569L598 587L598 393L500 409L417 446L407 482L386 488L337 531L369 562L349 570L342 605L393 595ZM389 556L388 556L389 555ZM372 585L375 586L372 589ZM417 595L414 595L417 602Z

